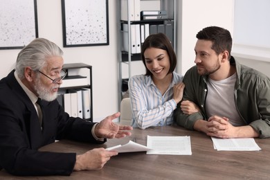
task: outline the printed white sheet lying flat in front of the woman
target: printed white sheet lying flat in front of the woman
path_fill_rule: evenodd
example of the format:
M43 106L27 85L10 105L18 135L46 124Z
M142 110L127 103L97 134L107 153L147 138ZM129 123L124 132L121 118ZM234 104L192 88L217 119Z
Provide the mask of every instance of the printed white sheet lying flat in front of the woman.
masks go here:
M191 155L190 136L147 136L146 154Z

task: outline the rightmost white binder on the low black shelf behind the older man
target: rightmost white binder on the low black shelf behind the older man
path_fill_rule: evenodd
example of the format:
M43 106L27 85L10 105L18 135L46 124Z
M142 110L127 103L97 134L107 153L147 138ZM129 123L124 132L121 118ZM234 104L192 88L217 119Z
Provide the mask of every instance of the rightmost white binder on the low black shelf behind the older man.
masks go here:
M90 89L82 88L82 118L84 119L91 118L90 102Z

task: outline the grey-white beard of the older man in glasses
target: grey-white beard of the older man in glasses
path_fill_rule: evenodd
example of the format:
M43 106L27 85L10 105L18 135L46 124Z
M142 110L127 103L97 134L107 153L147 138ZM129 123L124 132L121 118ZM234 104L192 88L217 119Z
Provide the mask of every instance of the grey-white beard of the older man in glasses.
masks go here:
M53 87L53 89L58 87L59 85L55 84L55 87ZM39 98L41 98L42 100L50 102L57 98L57 92L51 93L52 89L47 89L46 87L44 87L39 78L35 80L34 88L35 91L37 91Z

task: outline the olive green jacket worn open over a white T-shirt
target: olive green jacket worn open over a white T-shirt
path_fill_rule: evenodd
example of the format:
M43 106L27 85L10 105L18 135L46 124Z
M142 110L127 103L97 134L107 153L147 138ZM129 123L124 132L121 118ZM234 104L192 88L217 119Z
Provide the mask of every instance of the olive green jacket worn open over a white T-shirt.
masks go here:
M246 125L251 125L260 138L270 137L270 78L247 66L239 64L234 57L230 60L231 66L236 66L237 80L235 82L235 105ZM206 96L207 76L197 73L197 66L189 69L183 78L185 90L183 100L195 102L200 112L186 115L180 108L181 102L174 110L174 122L177 125L193 129L199 119L207 120ZM218 103L218 102L213 102Z

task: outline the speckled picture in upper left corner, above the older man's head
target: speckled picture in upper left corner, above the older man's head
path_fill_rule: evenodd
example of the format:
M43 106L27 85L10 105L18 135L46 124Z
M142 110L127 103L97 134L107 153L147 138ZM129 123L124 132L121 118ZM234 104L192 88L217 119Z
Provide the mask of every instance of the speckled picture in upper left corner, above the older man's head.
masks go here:
M0 49L23 48L38 37L37 0L1 0Z

